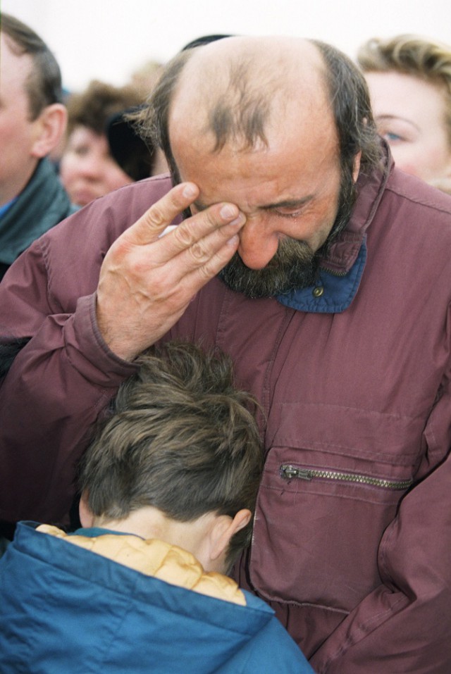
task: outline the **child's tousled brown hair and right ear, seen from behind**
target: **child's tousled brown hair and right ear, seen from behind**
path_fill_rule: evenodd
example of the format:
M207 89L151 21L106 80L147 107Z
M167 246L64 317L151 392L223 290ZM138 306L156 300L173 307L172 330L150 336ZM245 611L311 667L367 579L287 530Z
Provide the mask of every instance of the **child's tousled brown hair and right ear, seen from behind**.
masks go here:
M104 522L148 506L178 523L207 513L232 522L238 515L229 565L249 542L263 465L249 411L254 402L233 386L223 354L175 343L153 354L140 358L87 449L80 473L85 502Z

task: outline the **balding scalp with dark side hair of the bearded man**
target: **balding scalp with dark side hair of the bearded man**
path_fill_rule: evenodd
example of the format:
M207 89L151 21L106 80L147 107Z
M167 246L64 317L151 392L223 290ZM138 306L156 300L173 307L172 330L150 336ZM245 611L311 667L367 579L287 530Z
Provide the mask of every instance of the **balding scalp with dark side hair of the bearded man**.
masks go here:
M381 150L366 82L347 56L313 40L229 37L175 56L136 119L177 182L173 146L180 138L214 154L226 144L256 151L274 130L284 130L289 143L288 134L299 136L313 118L335 133L345 173L352 175L360 153L361 170L376 166Z

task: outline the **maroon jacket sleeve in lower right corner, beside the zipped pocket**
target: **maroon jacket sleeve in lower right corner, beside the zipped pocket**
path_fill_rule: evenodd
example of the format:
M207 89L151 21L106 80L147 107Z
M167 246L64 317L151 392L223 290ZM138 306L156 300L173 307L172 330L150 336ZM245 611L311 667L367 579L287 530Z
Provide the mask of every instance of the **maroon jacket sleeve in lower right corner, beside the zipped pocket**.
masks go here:
M450 392L426 426L426 461L449 447ZM436 457L435 457L436 458ZM435 461L431 461L435 463ZM451 456L404 497L378 554L383 585L311 659L319 674L451 671ZM363 532L364 535L364 532Z

